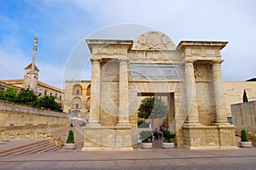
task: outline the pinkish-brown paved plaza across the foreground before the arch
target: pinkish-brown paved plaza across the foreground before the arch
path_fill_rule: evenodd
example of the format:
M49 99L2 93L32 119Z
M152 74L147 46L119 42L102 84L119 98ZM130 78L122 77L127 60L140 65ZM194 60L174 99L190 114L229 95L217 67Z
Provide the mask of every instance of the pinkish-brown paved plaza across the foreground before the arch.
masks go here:
M18 144L17 142L14 144ZM4 144L0 146L3 148ZM6 144L9 145L10 144ZM6 147L6 146L5 146ZM255 169L256 148L237 150L57 150L3 156L0 169Z

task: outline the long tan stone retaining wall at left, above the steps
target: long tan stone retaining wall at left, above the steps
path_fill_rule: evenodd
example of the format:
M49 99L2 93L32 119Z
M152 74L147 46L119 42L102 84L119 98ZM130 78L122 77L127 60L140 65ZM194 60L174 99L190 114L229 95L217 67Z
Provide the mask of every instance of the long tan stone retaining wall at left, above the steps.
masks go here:
M1 139L40 139L70 126L67 114L0 101Z

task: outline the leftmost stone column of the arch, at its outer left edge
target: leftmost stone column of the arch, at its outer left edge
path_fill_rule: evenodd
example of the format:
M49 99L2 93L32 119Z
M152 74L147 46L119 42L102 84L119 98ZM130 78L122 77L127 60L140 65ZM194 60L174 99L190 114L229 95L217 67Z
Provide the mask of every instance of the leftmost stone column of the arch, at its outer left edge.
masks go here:
M90 122L89 126L100 126L101 108L101 60L91 59Z

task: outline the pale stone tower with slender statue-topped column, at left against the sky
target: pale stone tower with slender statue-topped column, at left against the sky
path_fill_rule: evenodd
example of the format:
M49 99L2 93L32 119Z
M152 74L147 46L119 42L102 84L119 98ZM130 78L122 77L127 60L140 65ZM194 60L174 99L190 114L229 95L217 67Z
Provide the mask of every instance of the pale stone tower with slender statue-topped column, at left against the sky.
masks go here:
M35 65L36 55L38 51L38 37L34 38L32 63L27 65L24 74L24 88L30 88L31 91L36 93L38 87L38 67Z

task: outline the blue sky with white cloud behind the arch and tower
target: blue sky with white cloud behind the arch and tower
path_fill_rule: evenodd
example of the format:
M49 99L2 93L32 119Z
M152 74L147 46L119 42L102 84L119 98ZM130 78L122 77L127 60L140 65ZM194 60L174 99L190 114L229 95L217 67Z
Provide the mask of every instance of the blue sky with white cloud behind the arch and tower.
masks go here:
M222 51L224 81L245 81L256 77L255 7L253 0L0 0L0 79L23 77L34 37L41 82L61 88L65 65L76 57L79 68L87 65L79 77L88 79L90 54L84 39L99 37L108 26L131 23L162 31L176 44L228 41ZM118 38L123 32L127 34L119 29L107 37Z

